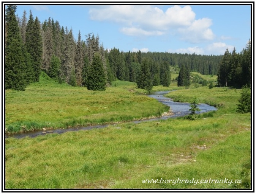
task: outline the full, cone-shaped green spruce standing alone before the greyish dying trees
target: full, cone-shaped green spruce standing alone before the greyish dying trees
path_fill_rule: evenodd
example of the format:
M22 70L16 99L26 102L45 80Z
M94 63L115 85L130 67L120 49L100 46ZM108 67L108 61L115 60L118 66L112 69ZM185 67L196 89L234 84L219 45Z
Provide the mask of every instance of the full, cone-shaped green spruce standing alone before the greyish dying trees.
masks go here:
M99 53L94 54L92 64L88 67L86 87L88 90L106 90L106 74Z

